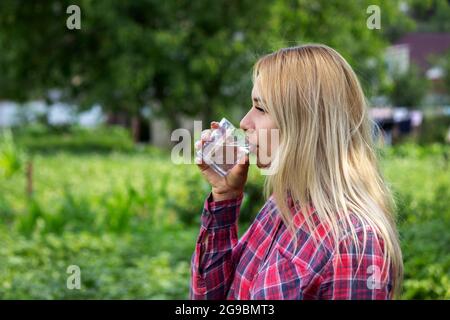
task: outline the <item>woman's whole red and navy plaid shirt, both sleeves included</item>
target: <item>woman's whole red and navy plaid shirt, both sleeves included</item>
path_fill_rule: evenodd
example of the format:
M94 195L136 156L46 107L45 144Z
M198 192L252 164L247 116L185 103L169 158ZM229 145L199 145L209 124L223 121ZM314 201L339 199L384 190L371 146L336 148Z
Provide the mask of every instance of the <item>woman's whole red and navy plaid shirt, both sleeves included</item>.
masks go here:
M282 223L273 196L238 240L242 198L214 202L210 194L205 200L191 260L191 299L390 299L390 277L383 281L386 274L381 274L382 240L367 227L364 239L357 219L352 219L354 227L366 245L361 261L354 247L341 246L345 239L340 241L338 259L312 208L308 214L317 227L313 233L307 231L304 214L294 214L298 230L294 252L294 238Z

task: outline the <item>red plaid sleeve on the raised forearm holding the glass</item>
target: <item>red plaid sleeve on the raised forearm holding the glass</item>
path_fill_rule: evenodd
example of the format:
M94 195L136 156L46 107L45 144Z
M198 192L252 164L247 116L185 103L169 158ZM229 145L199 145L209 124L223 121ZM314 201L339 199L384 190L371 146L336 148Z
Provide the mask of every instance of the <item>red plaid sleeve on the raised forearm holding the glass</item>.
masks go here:
M204 203L200 233L191 259L190 299L225 299L235 261L233 248L238 243L237 220L243 195Z

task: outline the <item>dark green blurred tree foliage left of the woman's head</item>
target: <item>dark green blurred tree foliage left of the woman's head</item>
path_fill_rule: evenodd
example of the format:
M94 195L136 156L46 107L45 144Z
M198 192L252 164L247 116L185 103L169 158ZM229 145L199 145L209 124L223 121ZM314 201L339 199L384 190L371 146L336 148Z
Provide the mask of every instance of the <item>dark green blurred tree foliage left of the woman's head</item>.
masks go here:
M81 8L81 30L65 9ZM0 4L3 98L48 98L140 116L144 106L176 126L178 114L237 105L267 2L20 1ZM247 80L249 78L247 77Z

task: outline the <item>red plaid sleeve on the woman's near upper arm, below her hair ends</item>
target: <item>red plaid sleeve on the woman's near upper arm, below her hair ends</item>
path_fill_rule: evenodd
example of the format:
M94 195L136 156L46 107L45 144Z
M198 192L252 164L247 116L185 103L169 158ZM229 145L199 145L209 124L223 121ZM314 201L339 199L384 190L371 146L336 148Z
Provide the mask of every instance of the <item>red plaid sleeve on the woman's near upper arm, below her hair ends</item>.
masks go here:
M323 273L319 299L391 299L389 267L383 265L383 241L372 231L367 231L365 238L362 231L358 232L358 237L365 243L364 252L356 254L351 244L346 248L342 244L341 254L332 256Z

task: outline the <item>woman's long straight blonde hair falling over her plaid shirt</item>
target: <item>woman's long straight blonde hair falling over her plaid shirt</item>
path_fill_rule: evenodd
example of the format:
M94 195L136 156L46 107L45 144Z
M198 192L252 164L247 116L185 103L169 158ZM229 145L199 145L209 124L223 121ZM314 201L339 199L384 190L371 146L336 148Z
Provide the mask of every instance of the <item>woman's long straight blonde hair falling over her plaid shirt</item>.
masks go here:
M361 85L350 65L334 49L309 44L283 48L260 58L253 69L261 98L280 133L265 181L281 218L296 238L290 195L299 211L315 210L329 227L339 253L339 240L349 234L359 250L352 216L383 243L382 274L400 290L402 253L395 226L395 202L380 173L371 120ZM304 215L310 230L311 216ZM297 241L295 241L296 243ZM360 260L361 261L361 260ZM359 267L359 266L358 266ZM386 270L388 270L386 272ZM392 295L393 297L394 295Z

